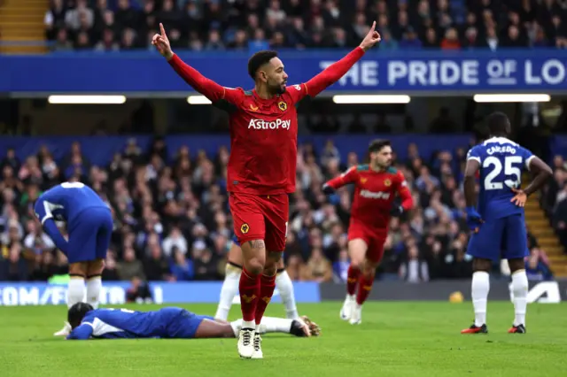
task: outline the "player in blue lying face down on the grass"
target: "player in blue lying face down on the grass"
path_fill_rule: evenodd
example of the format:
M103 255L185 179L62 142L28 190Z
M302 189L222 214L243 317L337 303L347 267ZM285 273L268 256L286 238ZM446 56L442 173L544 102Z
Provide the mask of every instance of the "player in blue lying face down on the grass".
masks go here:
M67 339L194 339L236 338L242 320L227 322L198 315L181 308L162 308L152 312L128 309L94 309L90 304L77 303L69 308L68 321L72 327ZM263 317L260 333L283 333L295 336L317 336L320 328L307 317L281 319Z

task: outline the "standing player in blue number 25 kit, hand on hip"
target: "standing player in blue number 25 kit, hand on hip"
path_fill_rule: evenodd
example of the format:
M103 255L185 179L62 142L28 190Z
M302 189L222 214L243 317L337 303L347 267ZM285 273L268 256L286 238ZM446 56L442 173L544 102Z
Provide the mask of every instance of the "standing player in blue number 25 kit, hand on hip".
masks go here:
M524 204L527 197L540 189L551 176L551 168L507 137L508 117L495 112L488 117L490 138L474 146L467 155L464 196L467 202L467 223L472 235L467 253L473 259L471 296L475 323L462 334L485 334L486 300L490 289L488 272L493 261L508 259L512 276L515 318L509 333L525 333L528 280L524 257L528 254ZM535 174L523 190L522 171ZM478 205L475 177L480 173Z

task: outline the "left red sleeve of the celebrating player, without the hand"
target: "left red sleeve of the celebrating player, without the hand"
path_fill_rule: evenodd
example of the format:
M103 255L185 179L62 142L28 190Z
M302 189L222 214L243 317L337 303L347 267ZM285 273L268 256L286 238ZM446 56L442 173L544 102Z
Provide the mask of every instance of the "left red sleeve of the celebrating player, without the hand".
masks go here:
M240 91L233 88L225 88L216 82L207 79L195 68L187 65L176 54L169 60L169 65L179 74L185 82L192 88L197 90L203 96L206 96L211 102L225 100L230 104L238 104Z

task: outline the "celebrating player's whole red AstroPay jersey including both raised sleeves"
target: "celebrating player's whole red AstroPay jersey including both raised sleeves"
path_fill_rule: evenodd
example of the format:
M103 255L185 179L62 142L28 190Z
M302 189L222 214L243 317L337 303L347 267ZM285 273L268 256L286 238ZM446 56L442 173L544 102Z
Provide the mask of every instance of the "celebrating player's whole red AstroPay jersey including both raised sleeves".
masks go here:
M276 195L295 192L298 119L295 105L338 81L364 55L357 47L345 58L280 96L260 98L254 90L224 88L174 55L169 64L213 104L229 110L229 192Z

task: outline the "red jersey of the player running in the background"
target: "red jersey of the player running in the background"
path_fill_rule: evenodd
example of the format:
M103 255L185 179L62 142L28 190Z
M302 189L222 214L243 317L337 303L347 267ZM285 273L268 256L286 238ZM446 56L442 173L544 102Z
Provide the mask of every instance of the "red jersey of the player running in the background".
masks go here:
M413 206L406 179L401 172L392 167L377 172L370 169L369 165L353 166L327 182L331 188L340 188L348 183L354 183L351 219L368 227L387 232L390 210L396 195L400 195L404 210L408 211Z

